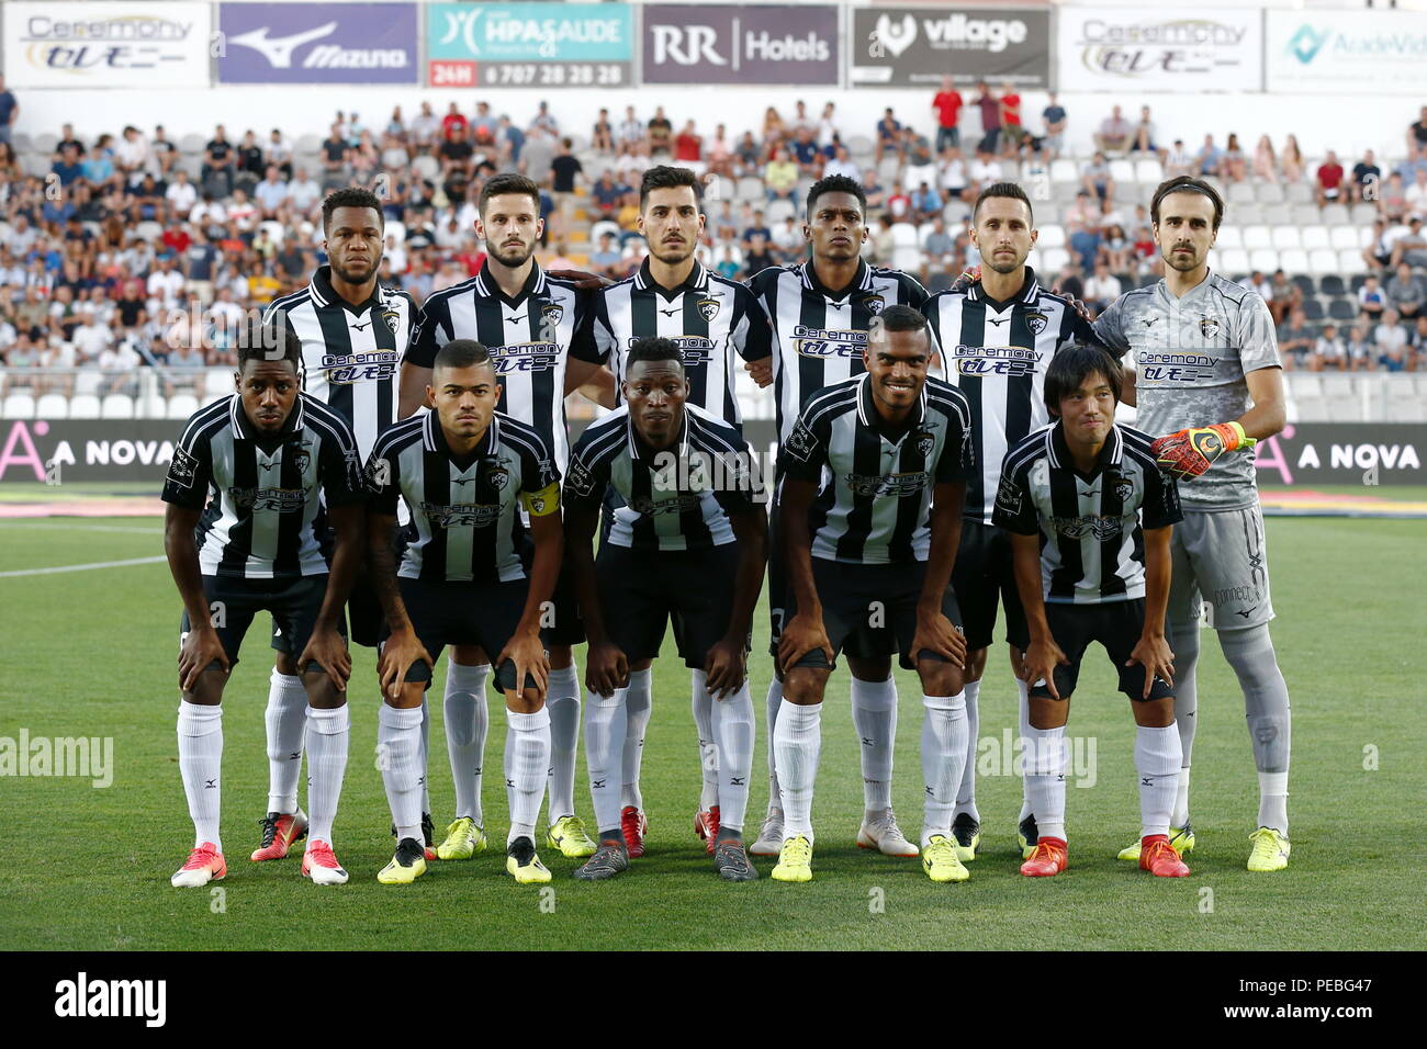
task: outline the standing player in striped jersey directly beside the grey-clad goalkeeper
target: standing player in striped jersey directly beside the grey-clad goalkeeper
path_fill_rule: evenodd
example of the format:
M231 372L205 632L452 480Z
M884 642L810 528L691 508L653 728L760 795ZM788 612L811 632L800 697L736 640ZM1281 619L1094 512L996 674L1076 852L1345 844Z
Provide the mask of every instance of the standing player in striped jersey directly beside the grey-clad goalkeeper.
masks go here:
M992 504L1006 451L1046 425L1042 397L1046 368L1077 340L1093 341L1090 325L1069 300L1052 294L1026 258L1037 230L1030 198L1016 183L995 183L972 208L972 243L980 251L979 278L958 281L932 295L922 311L946 354L952 381L972 407L976 472L966 488L966 521L952 584L966 621L966 769L956 794L952 835L962 862L976 858L982 824L976 808L979 698L986 654L996 627L996 607L1006 609L1006 641L1020 696L1017 728L1027 726L1026 682L1020 665L1030 637L1016 592L1009 537L992 524ZM1023 856L1036 845L1036 818L1022 798L1017 835Z

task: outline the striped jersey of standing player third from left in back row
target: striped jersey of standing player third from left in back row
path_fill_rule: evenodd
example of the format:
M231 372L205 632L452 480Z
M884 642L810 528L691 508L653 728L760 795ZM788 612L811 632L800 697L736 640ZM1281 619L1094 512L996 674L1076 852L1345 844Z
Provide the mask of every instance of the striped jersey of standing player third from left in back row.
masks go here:
M733 384L739 358L761 361L773 351L768 317L745 285L695 261L684 284L665 288L646 258L634 277L595 291L591 327L575 355L606 365L622 382L629 345L649 335L671 338L684 351L689 404L742 422Z

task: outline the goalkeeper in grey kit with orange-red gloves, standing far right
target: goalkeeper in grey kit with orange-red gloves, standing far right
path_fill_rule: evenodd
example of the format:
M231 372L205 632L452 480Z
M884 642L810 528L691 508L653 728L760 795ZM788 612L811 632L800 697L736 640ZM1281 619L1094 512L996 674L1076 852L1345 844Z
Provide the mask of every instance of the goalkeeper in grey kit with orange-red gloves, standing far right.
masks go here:
M1219 647L1243 688L1259 769L1249 869L1281 871L1289 865L1289 689L1269 637L1273 602L1251 448L1283 430L1283 365L1263 298L1209 271L1223 214L1209 183L1187 176L1162 183L1150 223L1164 280L1122 295L1095 331L1112 353L1133 353L1123 400L1137 405L1136 428L1157 438L1150 450L1180 482L1184 510L1170 547L1164 624L1184 755L1170 843L1182 853L1194 848L1189 765L1199 617L1207 601ZM1120 858L1139 859L1139 845Z

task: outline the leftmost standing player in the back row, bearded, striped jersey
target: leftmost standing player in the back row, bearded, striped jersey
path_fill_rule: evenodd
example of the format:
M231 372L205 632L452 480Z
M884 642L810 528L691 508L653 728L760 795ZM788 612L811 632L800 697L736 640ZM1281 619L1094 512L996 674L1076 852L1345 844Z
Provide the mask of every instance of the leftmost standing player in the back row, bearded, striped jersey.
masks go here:
M328 194L323 201L323 233L328 264L317 268L305 288L268 305L263 320L274 325L285 323L297 333L303 391L347 421L365 458L377 435L397 421L397 367L407 348L415 303L405 291L385 288L377 280L385 218L375 194L355 187ZM347 618L354 644L377 645L381 602L365 569L352 585ZM264 716L268 812L261 821L263 843L253 853L254 861L283 859L308 831L307 815L297 805L307 695L284 645L274 621L273 648L278 654ZM430 809L431 802L424 798L427 846L432 829Z

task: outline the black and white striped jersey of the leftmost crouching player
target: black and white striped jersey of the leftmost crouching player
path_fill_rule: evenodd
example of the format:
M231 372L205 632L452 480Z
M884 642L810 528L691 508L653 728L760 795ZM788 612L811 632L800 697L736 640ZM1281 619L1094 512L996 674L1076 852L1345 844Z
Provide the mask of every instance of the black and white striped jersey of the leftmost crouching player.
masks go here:
M357 438L310 394L297 395L273 437L260 438L238 394L200 408L163 491L164 502L204 511L194 531L198 569L238 579L325 575L323 501L365 498Z

